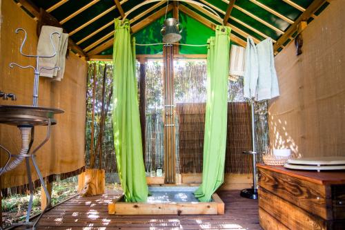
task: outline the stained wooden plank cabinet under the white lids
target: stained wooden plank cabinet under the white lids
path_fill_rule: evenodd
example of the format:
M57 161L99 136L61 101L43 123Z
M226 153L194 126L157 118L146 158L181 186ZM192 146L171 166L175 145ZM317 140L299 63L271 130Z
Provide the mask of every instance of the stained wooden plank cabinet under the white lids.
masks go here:
M345 229L345 171L257 165L264 229Z

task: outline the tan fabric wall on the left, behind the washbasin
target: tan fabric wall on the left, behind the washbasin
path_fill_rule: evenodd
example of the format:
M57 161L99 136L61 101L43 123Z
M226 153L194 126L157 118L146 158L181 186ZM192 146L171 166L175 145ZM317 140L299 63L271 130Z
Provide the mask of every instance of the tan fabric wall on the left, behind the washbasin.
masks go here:
M28 40L25 53L36 54L36 21L23 12L14 1L1 3L1 44L0 44L0 90L15 93L17 102L10 100L0 104L32 105L33 72L19 68L9 68L13 61L23 66L34 65L34 59L19 54L23 34L16 35L16 28L25 28ZM52 82L41 77L39 80L39 106L61 108L65 113L57 115L57 125L52 126L48 143L37 153L37 162L44 176L76 171L84 166L85 117L86 117L86 74L87 63L70 52L66 60L66 70L61 82ZM37 146L46 135L46 127L35 129ZM12 153L21 148L20 133L17 127L0 124L0 144ZM1 151L1 165L6 157ZM37 175L33 173L34 179ZM25 164L1 178L1 187L26 184Z

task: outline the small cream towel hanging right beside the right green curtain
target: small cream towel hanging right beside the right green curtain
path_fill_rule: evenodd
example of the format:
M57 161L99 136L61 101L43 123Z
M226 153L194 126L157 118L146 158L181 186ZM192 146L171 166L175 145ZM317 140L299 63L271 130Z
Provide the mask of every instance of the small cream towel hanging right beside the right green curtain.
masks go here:
M237 82L239 77L244 76L245 48L242 46L231 45L229 78Z

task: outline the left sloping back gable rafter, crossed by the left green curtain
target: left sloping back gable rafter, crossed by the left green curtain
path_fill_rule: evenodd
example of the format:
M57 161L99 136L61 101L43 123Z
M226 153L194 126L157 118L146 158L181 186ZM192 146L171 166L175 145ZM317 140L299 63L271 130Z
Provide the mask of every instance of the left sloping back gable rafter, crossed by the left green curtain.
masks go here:
M172 10L172 5L169 4L168 11ZM149 17L146 17L145 19L141 20L139 23L136 23L134 26L132 26L132 33L138 32L142 28L148 26L153 21L159 19L162 17L166 12L166 8L161 8L161 10L158 10L157 12L153 13ZM99 45L97 48L91 50L88 52L88 55L97 55L99 52L102 52L103 50L106 50L110 48L114 44L114 38L109 39L108 41L104 42L103 44Z

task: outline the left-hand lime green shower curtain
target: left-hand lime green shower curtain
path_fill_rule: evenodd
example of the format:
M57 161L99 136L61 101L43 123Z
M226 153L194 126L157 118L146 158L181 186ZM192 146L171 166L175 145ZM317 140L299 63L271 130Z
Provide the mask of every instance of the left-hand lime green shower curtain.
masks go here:
M115 20L113 128L117 169L126 202L145 202L148 186L141 145L135 39L130 24Z

